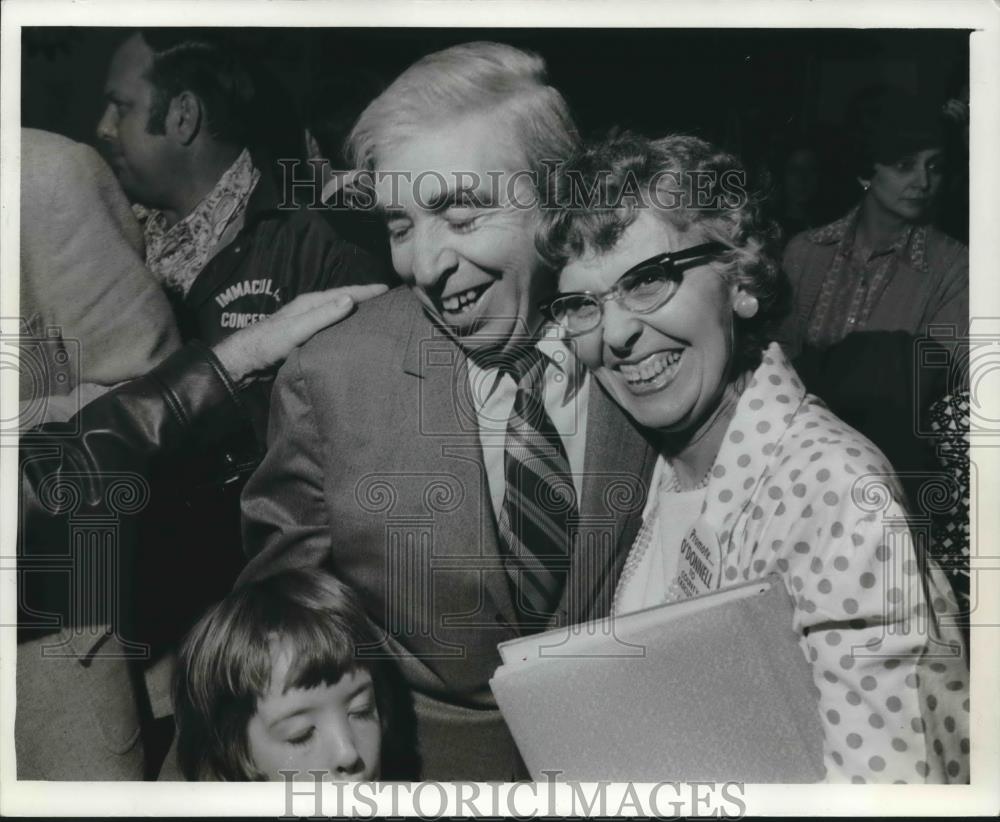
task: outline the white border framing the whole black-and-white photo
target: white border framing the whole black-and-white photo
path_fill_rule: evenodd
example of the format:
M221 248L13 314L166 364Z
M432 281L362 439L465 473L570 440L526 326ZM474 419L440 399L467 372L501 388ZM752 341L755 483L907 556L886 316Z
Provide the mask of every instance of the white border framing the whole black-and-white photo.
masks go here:
M989 207L1000 191L1000 5L990 0L716 0L715 2L614 3L577 0L382 0L378 3L338 0L6 0L0 6L0 317L18 314L18 203L20 127L21 28L24 26L156 26L205 25L274 27L579 27L579 28L911 28L972 29L970 39L970 108L972 129L970 175L971 298L973 315L996 318L1000 331L1000 231ZM8 333L8 328L2 329ZM998 337L1000 340L1000 337ZM996 343L1000 344L1000 342ZM989 384L989 380L992 384ZM16 413L17 375L0 369L0 418ZM983 394L991 409L988 417L1000 420L1000 379L987 379ZM17 523L16 449L0 448L0 624L16 621L16 577L12 569ZM972 500L971 515L977 518L982 543L973 547L978 557L981 590L992 596L981 603L980 625L974 626L972 655L972 781L968 786L873 786L873 785L748 785L742 793L745 811L752 815L990 815L1000 811L1000 451L973 443L972 460L978 469L980 495ZM279 817L288 814L286 787L281 784L219 783L93 783L18 782L14 763L14 665L16 636L13 629L0 631L0 813L4 815L255 815ZM565 787L565 786L563 786ZM638 785L635 795L648 796L651 786ZM437 792L426 792L429 808L439 814L461 813L455 785L446 786L447 804ZM489 796L489 786L482 795ZM498 789L499 805L492 815L552 815L568 813L569 794L562 788L550 800L545 786L534 794L524 785ZM612 792L613 791L613 792ZM516 793L515 793L516 792ZM445 795L445 794L440 794ZM466 791L466 796L469 793ZM589 796L588 792L588 796ZM638 813L627 800L627 786L608 793L608 810ZM399 803L387 795L377 801L357 801L357 814L370 818L380 814L412 815L428 809L415 808L409 787L397 791ZM345 815L334 791L324 794L320 813ZM673 815L708 813L711 806L692 807L690 802L673 809ZM419 796L418 796L419 800ZM486 807L476 806L476 807ZM662 807L662 806L661 806ZM733 804L715 808L731 813ZM471 806L466 806L468 812ZM577 805L577 812L579 805ZM294 811L301 815L317 811L308 796L296 797ZM426 814L425 814L426 815Z

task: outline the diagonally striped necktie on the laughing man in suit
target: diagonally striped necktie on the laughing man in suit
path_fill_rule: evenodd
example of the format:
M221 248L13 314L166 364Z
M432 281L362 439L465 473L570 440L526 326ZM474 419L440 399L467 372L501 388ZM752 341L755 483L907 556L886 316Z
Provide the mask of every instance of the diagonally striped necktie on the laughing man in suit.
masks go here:
M499 532L515 609L527 633L543 629L562 595L577 518L569 459L542 401L547 362L526 349L505 370L517 394L504 450Z

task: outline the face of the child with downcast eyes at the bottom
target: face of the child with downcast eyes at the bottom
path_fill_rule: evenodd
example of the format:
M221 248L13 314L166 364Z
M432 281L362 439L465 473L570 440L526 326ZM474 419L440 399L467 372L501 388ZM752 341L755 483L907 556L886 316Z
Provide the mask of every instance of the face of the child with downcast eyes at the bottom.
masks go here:
M358 668L333 685L283 693L288 668L288 654L279 650L271 687L247 725L258 770L272 781L284 778L279 770L296 771L294 778L304 780L315 770L336 780L377 779L382 726L371 675Z

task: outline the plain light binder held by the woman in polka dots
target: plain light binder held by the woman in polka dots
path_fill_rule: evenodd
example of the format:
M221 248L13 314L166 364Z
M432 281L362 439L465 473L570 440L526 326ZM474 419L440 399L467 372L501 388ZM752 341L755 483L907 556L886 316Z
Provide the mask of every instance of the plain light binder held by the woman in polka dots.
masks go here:
M490 686L534 779L816 782L823 731L777 575L505 642Z

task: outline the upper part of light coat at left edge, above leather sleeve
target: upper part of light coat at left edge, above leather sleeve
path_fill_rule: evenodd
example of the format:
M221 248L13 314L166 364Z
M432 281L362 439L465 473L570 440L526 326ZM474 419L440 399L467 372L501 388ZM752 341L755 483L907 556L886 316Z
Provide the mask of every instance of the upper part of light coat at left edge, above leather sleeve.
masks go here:
M21 400L114 385L180 346L163 289L142 260L142 232L90 146L21 130Z

